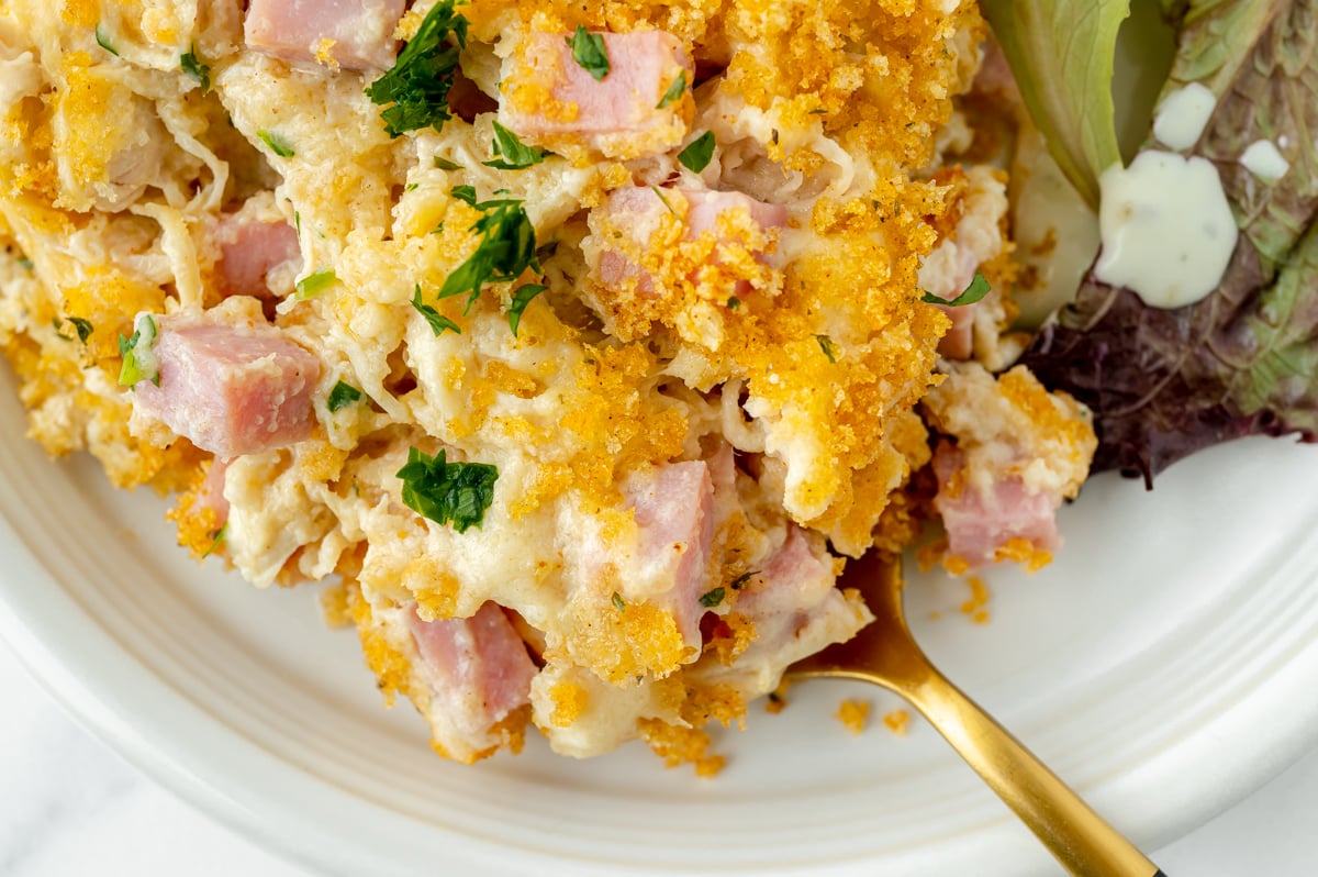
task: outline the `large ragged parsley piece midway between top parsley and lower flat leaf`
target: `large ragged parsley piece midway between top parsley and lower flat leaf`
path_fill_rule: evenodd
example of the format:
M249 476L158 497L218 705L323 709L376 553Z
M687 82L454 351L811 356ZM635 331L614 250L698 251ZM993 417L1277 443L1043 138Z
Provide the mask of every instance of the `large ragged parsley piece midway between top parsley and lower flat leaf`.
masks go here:
M471 190L471 200L465 197L467 191L459 195L459 189ZM468 293L467 306L471 307L486 284L511 282L527 268L540 270L540 262L535 258L535 227L521 200L503 198L476 202L476 193L471 186L453 189L453 197L484 212L471 227L471 231L481 235L481 243L444 280L439 298Z

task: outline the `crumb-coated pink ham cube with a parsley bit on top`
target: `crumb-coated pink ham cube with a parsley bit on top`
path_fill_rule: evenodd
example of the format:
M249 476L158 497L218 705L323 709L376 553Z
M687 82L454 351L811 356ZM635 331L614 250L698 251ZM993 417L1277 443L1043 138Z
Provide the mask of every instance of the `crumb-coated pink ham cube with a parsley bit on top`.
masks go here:
M660 108L664 94L695 66L681 42L663 30L602 33L609 73L596 79L572 58L571 34L531 33L505 67L502 120L527 141L577 145L609 158L635 158L677 146L687 136L691 100Z

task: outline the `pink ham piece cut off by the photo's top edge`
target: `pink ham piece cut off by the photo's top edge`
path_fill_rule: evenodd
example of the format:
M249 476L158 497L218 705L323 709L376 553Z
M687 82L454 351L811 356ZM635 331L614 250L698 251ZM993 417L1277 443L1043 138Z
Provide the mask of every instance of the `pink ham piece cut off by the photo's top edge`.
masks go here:
M250 0L249 49L283 61L332 59L347 70L387 70L405 0Z

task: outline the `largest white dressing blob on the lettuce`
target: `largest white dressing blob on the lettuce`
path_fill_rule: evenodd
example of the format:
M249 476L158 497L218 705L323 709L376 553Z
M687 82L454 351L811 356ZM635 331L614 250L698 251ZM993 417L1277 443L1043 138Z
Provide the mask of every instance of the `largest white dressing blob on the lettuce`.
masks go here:
M1168 309L1217 289L1239 235L1217 167L1148 150L1103 171L1099 187L1099 280Z

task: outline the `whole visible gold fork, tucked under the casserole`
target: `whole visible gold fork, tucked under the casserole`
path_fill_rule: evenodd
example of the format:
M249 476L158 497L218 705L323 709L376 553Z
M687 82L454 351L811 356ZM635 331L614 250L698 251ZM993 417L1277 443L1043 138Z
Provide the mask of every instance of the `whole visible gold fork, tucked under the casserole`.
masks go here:
M874 622L847 642L793 663L788 675L858 679L905 698L1070 873L1165 877L929 662L902 611L899 560L871 551L851 560L844 579L865 596Z

